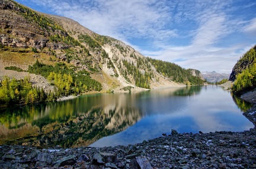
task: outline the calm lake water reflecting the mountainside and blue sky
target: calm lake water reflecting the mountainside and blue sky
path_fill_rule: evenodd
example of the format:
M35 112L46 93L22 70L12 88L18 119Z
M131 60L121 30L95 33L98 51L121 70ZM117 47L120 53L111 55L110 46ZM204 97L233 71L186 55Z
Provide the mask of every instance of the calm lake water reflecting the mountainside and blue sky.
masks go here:
M62 102L1 109L0 144L42 147L128 145L162 133L244 131L250 106L218 86L85 95Z

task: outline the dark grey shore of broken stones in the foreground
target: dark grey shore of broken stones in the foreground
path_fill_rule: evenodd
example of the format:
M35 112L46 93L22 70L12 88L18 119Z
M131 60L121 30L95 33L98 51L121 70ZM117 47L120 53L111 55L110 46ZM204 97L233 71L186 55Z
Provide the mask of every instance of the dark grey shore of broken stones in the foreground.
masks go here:
M254 102L243 115L254 128L204 134L174 131L139 144L103 148L0 145L0 168L256 168Z

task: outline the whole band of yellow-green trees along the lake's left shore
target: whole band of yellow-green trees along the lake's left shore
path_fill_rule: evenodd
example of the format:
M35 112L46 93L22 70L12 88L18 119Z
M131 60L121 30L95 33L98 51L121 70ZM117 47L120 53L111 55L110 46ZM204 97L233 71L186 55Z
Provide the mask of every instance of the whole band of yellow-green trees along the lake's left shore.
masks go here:
M17 80L6 76L0 82L1 105L52 101L61 96L79 95L102 89L101 83L91 79L88 71L74 71L69 69L65 63L50 66L37 60L33 66L28 67L28 72L44 76L55 86L55 89L45 93L42 88L31 84L30 77Z

